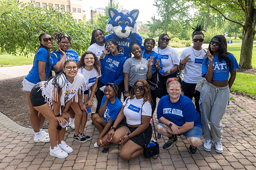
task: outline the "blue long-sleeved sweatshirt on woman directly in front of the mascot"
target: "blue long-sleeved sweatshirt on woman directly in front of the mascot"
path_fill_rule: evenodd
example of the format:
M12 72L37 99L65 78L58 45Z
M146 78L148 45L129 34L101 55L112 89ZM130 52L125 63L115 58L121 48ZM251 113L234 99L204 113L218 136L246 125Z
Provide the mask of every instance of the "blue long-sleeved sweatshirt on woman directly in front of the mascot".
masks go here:
M103 84L115 82L119 85L124 80L122 67L125 61L124 54L106 54L103 60L100 60L102 77L99 77L99 80Z

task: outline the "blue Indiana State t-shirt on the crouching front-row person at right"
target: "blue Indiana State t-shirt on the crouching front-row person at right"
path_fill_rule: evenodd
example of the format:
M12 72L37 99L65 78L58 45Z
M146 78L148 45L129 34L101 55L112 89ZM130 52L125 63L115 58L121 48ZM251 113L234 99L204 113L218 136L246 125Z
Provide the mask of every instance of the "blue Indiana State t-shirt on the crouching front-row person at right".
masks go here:
M194 122L194 126L202 127L199 113L195 110L195 105L191 99L180 95L180 99L172 103L170 96L163 96L157 105L157 119L164 116L177 126L182 126L185 122Z

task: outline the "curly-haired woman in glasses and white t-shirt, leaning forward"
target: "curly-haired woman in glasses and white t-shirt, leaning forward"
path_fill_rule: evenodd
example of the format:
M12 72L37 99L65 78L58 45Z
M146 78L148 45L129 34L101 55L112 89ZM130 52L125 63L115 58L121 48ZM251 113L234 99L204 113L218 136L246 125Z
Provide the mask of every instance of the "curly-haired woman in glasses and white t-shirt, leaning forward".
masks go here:
M85 51L82 54L81 59L78 62L78 72L85 78L86 88L84 89L84 100L79 100L83 116L80 124L80 134L87 140L91 137L84 133L84 127L87 122L87 108L91 108L93 105L93 96L95 95L98 79L101 77L100 62L98 57L91 51ZM89 91L91 94L89 96Z

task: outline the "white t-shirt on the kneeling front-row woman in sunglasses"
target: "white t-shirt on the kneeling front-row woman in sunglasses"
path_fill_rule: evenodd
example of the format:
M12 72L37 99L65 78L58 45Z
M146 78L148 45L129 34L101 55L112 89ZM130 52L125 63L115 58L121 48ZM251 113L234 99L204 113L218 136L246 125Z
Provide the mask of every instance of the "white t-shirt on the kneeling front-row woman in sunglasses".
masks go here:
M147 101L143 105L143 98L142 99L136 99L136 96L131 99L126 99L123 105L124 108L124 115L126 117L126 123L128 125L139 125L141 124L141 115L143 116L151 116L152 108L150 103ZM142 113L141 113L141 106Z

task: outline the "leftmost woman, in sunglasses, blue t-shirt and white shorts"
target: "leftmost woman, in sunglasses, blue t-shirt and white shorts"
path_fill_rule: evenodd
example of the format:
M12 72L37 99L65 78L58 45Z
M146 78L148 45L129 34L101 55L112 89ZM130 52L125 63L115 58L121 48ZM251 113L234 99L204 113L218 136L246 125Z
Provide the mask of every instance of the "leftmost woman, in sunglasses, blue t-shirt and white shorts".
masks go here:
M42 33L39 35L40 47L35 54L33 67L29 71L29 74L24 78L22 85L23 91L26 92L26 99L29 104L30 111L30 121L35 132L35 142L49 142L49 134L42 130L44 124L44 116L41 113L33 108L30 102L30 91L31 89L41 81L46 80L48 77L52 75L52 53L50 50L52 48L53 38L48 33ZM66 55L64 51L60 50L62 55Z

